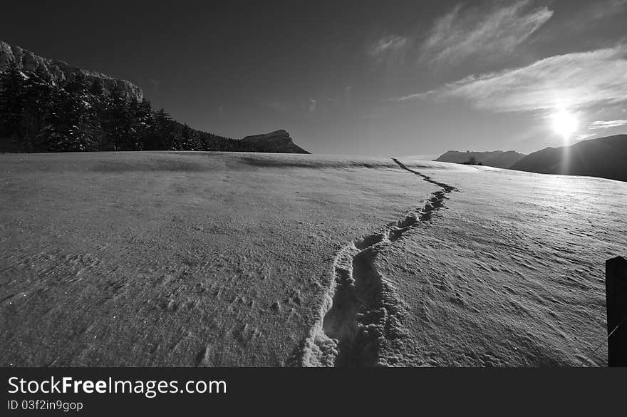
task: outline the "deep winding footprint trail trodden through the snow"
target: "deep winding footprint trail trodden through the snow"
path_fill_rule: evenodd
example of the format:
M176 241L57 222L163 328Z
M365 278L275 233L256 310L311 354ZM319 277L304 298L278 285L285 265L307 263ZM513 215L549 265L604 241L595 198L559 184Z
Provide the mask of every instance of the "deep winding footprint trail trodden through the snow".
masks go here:
M442 190L432 192L422 207L402 220L351 240L338 251L318 319L302 345L300 366L398 366L411 355L403 326L407 309L393 284L378 272L375 261L405 232L429 221L455 187L393 160Z

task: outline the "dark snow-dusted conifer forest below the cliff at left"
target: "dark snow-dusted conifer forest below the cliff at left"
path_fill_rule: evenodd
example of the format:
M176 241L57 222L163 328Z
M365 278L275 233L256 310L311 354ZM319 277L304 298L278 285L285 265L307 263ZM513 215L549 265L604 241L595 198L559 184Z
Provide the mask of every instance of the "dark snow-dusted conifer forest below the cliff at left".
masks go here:
M272 151L192 129L145 99L127 100L119 86L106 91L100 78L77 72L61 84L14 61L0 73L0 138L26 152Z

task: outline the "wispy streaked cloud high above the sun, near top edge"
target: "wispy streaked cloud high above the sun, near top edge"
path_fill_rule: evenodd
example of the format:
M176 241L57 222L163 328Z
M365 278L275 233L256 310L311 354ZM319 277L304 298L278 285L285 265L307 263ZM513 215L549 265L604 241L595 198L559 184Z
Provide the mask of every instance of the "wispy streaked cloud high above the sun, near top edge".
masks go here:
M528 10L529 3L517 1L487 14L457 5L435 22L423 43L423 60L433 66L455 65L512 52L553 16L546 7Z

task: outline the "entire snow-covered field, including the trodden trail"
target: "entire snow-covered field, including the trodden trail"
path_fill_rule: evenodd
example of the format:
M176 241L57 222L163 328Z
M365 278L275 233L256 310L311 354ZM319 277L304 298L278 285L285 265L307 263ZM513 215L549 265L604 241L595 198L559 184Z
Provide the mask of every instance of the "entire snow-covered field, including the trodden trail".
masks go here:
M0 364L606 364L626 183L398 160L0 155Z

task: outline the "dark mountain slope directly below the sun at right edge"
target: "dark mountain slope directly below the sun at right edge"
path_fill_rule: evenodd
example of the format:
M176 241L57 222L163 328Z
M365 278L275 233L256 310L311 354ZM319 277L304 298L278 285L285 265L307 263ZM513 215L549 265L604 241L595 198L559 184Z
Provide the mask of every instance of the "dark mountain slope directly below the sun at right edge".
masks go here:
M582 140L561 148L544 148L522 158L511 169L627 181L627 135Z

